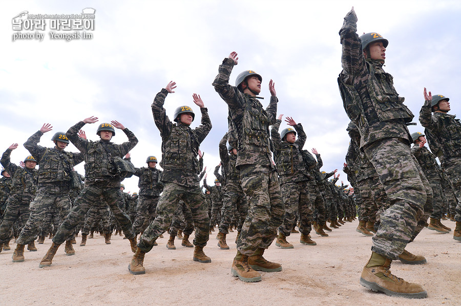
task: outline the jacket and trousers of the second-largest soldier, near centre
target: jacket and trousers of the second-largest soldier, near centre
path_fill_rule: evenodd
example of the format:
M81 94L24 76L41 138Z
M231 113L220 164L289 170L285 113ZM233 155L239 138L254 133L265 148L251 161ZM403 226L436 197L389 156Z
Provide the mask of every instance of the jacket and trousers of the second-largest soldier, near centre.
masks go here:
M269 125L276 121L278 99L270 97L264 110L258 99L229 85L234 65L234 60L224 59L213 86L228 105L237 136L237 139L229 140L229 144L238 151L236 168L240 170L242 190L248 202L248 214L237 240L237 250L251 256L270 246L285 215L269 140Z

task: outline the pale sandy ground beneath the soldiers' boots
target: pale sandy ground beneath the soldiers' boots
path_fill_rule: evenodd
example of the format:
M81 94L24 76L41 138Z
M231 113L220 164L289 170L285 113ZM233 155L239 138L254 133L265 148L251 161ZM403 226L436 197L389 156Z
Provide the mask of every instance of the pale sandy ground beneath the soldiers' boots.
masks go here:
M444 221L454 229L454 222ZM407 250L426 256L426 265L392 264L399 277L420 283L426 299L392 298L359 284L362 268L370 256L371 238L355 231L358 220L334 229L329 237L312 232L317 246L299 243L300 234L287 239L294 249L282 250L273 243L265 257L282 264L281 272L262 272L259 283L243 283L231 275L236 253L236 232L229 233L230 250L217 247L210 236L205 253L212 263L192 261L192 248L166 249L167 236L145 256L146 274L131 275L127 266L132 252L128 240L113 237L112 244L95 234L85 247L74 245L67 256L62 245L51 267L38 263L51 245L36 244L26 250L26 261L12 263L10 251L0 253L0 305L460 305L461 243L453 234L423 229Z

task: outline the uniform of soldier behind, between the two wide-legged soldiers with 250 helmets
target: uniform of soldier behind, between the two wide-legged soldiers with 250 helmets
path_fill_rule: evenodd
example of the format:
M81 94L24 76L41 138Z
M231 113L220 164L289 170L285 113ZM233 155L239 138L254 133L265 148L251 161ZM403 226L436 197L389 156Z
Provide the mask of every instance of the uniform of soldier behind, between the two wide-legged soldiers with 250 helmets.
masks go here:
M137 235L141 231L144 231L144 229L154 221L156 216L155 209L157 208L163 185L160 182L162 171L157 168L136 168L136 173L134 175L139 177L136 219L133 223L133 229Z

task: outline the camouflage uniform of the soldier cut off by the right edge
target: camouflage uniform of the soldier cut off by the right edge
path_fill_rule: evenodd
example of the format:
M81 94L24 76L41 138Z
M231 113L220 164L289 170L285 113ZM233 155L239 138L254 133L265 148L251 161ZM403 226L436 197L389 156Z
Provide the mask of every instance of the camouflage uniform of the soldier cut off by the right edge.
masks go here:
M455 220L461 222L461 123L455 115L434 112L431 101L425 101L420 111L420 122L424 126L428 142L437 147L436 155L441 160L453 192L458 200Z

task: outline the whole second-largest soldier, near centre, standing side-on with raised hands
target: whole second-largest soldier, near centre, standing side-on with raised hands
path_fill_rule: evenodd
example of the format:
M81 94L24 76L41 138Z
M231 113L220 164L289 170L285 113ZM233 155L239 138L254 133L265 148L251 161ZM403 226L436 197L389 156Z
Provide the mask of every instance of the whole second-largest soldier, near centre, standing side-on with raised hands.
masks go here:
M264 251L277 237L277 228L285 214L269 139L269 125L276 121L278 99L270 80L270 102L263 109L257 99L262 77L253 70L245 70L237 77L236 86L230 85L229 77L237 63L237 53L232 52L219 66L213 86L228 106L235 131L229 144L237 149L236 168L240 171L242 190L248 202L248 214L237 240L231 272L242 281L253 282L261 280L261 274L255 269L266 272L282 270L280 264L268 262L263 257Z

